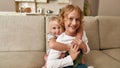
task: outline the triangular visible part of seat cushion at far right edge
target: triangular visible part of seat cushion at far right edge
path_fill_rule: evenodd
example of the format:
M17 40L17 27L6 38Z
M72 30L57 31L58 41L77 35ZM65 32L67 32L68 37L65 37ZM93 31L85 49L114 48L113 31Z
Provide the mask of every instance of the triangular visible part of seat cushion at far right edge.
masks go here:
M103 50L105 54L120 62L120 48Z

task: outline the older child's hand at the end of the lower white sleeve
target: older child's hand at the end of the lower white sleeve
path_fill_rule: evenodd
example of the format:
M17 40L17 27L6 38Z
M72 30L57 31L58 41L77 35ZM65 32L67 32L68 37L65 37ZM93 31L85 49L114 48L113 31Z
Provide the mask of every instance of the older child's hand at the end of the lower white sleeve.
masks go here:
M78 45L72 45L70 50L69 50L69 54L70 54L73 61L77 58L79 53L80 53L79 46Z

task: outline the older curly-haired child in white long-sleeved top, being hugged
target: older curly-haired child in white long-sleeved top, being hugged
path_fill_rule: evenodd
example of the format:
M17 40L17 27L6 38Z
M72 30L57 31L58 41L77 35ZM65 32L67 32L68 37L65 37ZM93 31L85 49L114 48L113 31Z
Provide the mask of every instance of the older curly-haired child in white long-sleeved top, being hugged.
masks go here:
M85 32L83 32L82 40L77 38L75 39L78 31L82 28L83 15L80 8L73 5L67 5L62 9L59 18L65 32L57 38L57 42L71 46L70 49L68 48L70 55L67 55L64 58L59 58L60 54L66 52L66 50L58 51L51 49L48 55L47 68L63 68L66 66L72 66L73 61L77 59L78 53L80 53L80 49L83 53L88 53L90 51L87 45L88 40ZM74 67L79 68L80 63L76 64Z

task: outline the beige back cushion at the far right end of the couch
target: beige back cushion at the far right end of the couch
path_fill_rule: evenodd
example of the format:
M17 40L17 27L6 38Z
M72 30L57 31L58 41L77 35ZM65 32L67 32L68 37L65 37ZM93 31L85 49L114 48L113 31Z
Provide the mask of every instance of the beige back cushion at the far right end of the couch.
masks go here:
M97 16L99 22L100 48L120 47L120 17Z

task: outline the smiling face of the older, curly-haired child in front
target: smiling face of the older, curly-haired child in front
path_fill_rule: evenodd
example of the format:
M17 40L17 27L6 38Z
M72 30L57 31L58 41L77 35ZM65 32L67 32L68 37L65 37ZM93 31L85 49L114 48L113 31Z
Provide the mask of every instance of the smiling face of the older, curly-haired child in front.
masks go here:
M73 10L64 18L65 32L68 35L74 36L80 27L79 13Z

